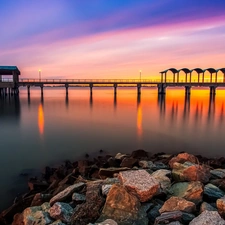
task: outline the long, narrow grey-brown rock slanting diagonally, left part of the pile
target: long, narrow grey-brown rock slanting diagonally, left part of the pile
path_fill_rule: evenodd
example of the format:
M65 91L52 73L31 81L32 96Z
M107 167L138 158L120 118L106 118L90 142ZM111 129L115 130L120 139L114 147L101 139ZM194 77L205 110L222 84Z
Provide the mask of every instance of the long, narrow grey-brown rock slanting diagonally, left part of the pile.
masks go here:
M67 187L65 190L63 190L62 192L58 193L53 198L51 198L50 205L52 206L55 202L64 201L68 197L72 196L72 194L75 191L81 190L84 186L85 186L85 184L80 182L80 183L73 184L73 185Z

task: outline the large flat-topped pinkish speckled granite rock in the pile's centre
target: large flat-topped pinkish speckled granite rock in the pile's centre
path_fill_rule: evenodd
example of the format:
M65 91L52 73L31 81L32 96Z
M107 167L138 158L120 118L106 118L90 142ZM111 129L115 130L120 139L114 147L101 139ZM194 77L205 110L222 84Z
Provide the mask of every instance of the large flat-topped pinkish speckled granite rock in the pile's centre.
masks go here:
M159 182L145 170L123 171L118 178L128 192L136 195L141 202L150 200L160 191Z

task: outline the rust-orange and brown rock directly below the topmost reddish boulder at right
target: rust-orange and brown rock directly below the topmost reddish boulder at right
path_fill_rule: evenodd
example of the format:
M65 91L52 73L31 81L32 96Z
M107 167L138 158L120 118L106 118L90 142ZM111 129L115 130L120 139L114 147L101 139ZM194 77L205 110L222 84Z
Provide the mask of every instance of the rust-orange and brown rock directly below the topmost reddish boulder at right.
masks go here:
M210 178L209 169L190 162L173 163L172 177L175 181L200 181L207 183Z

